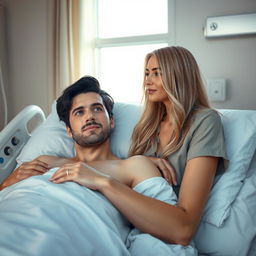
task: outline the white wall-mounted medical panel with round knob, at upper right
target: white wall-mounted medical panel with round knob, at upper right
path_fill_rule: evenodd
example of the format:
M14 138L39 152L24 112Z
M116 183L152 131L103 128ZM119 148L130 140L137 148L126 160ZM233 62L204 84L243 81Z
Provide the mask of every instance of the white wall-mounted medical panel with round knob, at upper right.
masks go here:
M224 37L256 34L256 13L208 17L205 37Z

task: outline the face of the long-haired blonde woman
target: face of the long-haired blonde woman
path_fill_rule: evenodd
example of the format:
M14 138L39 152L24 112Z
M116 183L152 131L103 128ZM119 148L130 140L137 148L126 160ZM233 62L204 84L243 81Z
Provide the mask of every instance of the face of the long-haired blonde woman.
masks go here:
M162 72L155 56L151 56L146 65L144 86L145 94L149 101L169 101L163 88Z

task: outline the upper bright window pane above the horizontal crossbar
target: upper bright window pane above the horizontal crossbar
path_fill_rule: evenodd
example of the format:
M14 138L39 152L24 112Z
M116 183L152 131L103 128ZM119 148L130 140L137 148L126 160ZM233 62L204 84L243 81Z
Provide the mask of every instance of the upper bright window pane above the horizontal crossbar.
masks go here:
M167 32L167 0L98 0L99 38Z

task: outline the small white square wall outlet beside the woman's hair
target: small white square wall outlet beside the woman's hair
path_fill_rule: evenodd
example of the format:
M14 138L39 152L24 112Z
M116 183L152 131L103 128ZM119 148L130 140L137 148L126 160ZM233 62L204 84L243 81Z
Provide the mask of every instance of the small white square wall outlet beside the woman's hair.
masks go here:
M226 80L225 79L207 80L206 91L207 91L209 101L225 101L226 100Z

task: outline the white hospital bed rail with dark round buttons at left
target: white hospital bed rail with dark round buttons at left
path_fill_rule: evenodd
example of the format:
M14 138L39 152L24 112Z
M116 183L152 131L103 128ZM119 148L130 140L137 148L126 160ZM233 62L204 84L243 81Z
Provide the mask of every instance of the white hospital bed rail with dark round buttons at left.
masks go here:
M45 121L40 107L27 106L0 132L0 183L15 168L16 158L31 136L28 123L34 117L37 118L37 126Z

